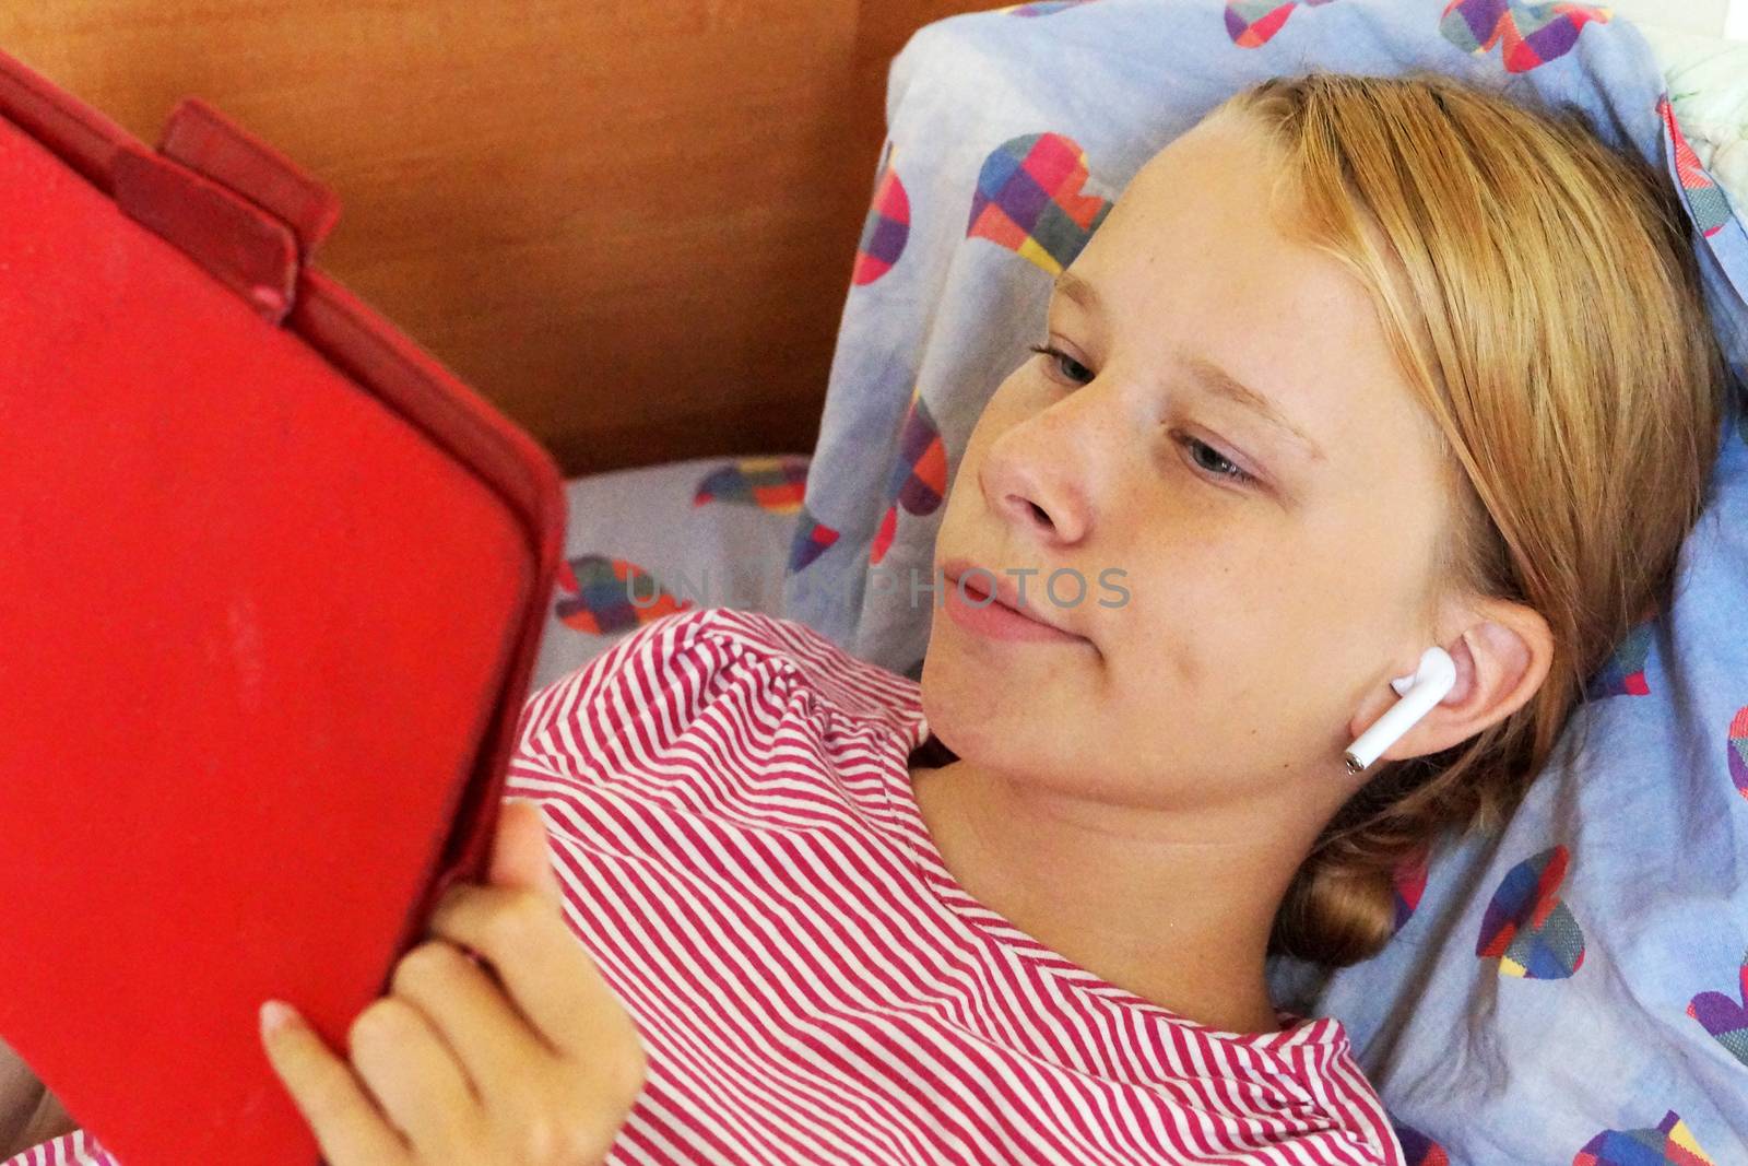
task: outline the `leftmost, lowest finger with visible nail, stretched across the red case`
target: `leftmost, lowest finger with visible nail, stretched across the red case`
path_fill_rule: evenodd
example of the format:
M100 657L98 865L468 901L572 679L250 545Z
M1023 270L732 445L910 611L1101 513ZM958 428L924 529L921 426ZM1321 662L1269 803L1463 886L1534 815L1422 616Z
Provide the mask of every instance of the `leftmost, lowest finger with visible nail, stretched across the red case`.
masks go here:
M329 1166L411 1163L407 1142L371 1101L351 1066L295 1014L278 1028L262 1012L262 1047Z

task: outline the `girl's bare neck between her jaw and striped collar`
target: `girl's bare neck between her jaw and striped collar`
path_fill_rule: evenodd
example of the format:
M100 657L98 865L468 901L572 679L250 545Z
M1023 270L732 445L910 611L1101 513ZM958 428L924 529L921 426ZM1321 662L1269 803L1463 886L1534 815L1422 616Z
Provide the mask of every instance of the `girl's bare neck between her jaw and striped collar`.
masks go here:
M1201 1024L1278 1028L1264 956L1304 806L1112 806L965 760L911 785L953 878L1038 942Z

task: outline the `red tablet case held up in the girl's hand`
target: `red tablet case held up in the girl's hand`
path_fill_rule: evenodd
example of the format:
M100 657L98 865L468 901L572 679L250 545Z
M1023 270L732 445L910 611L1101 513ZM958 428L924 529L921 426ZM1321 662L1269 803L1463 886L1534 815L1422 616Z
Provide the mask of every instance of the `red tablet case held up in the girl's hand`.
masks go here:
M311 1166L255 1009L343 1051L482 879L563 545L530 435L309 266L334 196L0 54L0 1035L124 1166Z

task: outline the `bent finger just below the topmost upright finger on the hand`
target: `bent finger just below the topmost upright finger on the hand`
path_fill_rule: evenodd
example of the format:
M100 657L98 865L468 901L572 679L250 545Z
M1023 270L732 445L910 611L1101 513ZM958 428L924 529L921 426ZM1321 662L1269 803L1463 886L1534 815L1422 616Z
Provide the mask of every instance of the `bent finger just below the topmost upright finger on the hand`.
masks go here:
M437 904L430 930L484 954L510 1003L556 1054L598 1058L636 1044L626 1007L538 892L460 883Z

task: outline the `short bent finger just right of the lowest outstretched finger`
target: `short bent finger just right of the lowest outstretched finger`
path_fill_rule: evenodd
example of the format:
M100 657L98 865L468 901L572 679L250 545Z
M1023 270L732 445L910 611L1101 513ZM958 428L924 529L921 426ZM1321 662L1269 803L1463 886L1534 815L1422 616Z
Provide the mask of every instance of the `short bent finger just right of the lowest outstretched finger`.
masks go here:
M381 996L346 1035L358 1077L420 1161L456 1161L484 1121L461 1063L418 1005Z

